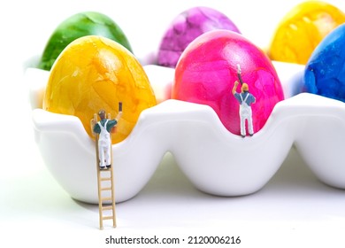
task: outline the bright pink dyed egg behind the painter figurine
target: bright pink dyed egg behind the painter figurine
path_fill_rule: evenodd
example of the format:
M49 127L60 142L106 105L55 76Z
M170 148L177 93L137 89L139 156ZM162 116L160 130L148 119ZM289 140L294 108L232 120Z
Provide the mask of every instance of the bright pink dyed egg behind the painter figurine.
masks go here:
M188 45L176 66L172 97L210 105L224 126L239 135L239 103L232 94L234 81L239 80L237 64L257 100L251 108L254 132L259 131L274 105L284 99L283 90L264 51L235 32L210 31Z

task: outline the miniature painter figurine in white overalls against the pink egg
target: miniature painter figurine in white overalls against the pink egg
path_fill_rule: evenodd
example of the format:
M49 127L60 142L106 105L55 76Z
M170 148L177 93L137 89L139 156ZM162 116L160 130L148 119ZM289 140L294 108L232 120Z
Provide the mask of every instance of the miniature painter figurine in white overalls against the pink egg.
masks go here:
M233 94L237 101L240 103L241 136L244 138L246 136L246 120L248 122L249 136L254 135L251 104L254 104L256 99L252 94L249 93L248 84L242 81L240 65L237 65L237 75L242 84L241 93L236 92L239 81L235 81Z

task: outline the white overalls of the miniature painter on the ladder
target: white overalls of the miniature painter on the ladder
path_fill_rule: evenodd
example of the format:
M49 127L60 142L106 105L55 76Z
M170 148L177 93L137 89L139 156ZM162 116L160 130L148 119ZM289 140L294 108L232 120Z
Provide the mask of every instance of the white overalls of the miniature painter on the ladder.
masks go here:
M108 120L105 121L104 127L101 121L98 121L98 125L101 128L101 133L98 137L98 156L99 166L106 167L111 165L111 134L107 130Z

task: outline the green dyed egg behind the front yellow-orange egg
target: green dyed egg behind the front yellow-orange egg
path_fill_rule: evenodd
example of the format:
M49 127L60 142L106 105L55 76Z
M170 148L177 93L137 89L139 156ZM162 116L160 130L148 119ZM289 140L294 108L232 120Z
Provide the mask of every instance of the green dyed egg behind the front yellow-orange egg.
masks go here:
M80 12L65 19L54 30L43 50L38 68L49 71L60 52L69 43L85 35L102 35L132 51L126 35L110 17L101 12Z

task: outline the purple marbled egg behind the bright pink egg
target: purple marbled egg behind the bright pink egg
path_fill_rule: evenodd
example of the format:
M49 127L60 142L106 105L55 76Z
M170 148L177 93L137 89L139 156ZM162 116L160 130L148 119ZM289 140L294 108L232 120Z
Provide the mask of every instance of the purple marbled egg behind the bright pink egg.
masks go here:
M197 36L214 29L240 33L225 14L209 7L194 7L181 12L165 32L160 43L157 65L175 67L183 50Z

